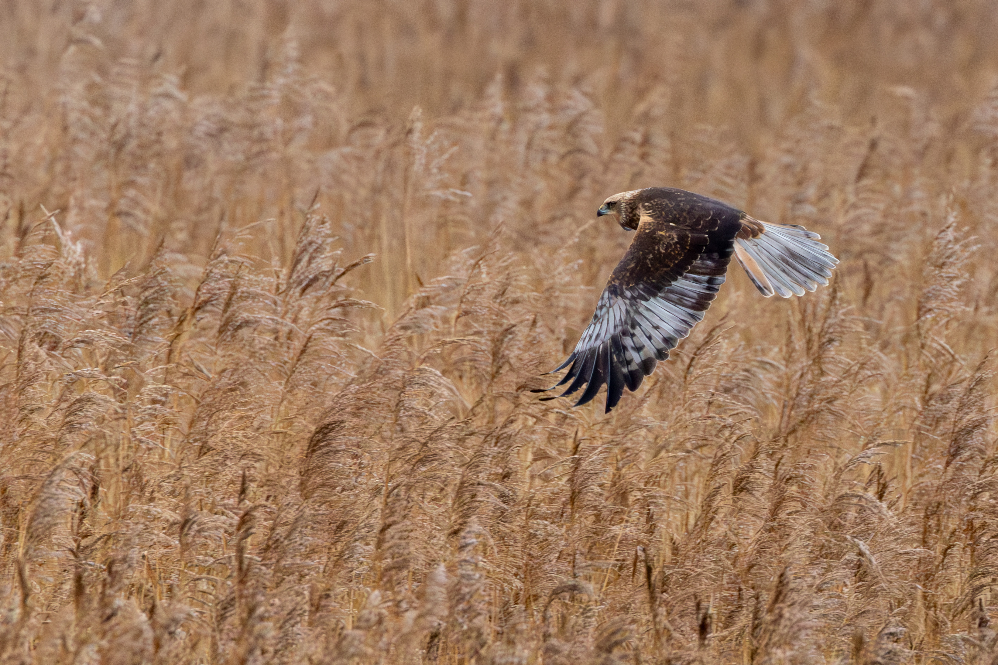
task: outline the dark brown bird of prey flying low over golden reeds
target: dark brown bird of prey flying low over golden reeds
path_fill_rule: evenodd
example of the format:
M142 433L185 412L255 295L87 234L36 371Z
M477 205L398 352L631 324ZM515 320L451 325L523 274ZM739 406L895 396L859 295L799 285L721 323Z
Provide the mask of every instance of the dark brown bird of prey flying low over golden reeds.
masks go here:
M548 374L568 374L557 397L583 390L575 406L607 385L606 413L624 388L635 391L660 360L690 334L725 282L732 254L763 296L784 298L827 285L838 259L817 233L795 224L759 221L708 196L648 187L608 197L597 215L613 215L637 231L614 268L593 320L572 355ZM570 367L571 366L571 367ZM557 397L545 397L553 400Z

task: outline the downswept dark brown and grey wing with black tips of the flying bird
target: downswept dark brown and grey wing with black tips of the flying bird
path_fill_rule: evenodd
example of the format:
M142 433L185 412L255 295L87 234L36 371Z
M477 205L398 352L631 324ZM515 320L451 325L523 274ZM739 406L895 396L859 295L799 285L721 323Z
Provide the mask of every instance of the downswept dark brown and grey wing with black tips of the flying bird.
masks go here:
M553 370L571 365L552 387L571 382L558 397L585 387L575 406L592 400L606 384L609 413L625 387L637 390L656 363L667 359L669 351L704 318L725 282L735 236L741 229L739 211L724 206L685 215L675 210L656 212L655 217L642 215L634 241L600 296L592 322L572 355Z

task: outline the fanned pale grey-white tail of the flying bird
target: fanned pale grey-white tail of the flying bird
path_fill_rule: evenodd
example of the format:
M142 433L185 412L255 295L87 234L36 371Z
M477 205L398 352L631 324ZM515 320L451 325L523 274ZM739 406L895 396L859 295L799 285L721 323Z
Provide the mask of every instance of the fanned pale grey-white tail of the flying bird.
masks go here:
M838 259L817 242L820 235L795 224L759 223L762 233L735 240L735 256L762 295L788 298L828 283Z

